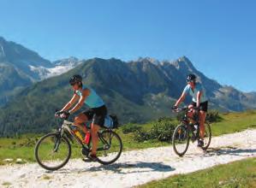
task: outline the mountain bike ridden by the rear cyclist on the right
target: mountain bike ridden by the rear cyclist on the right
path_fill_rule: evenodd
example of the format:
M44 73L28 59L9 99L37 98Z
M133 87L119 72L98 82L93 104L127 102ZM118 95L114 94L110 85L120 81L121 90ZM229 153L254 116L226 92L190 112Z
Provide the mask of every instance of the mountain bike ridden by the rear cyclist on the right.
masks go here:
M183 112L181 124L176 126L176 129L172 136L173 149L178 156L184 156L188 150L189 141L192 142L199 140L199 115L194 114L193 117L188 116L189 112L193 109L188 109L184 107L182 109L174 109L174 112ZM205 121L205 136L204 136L204 146L202 150L207 150L211 144L211 124Z

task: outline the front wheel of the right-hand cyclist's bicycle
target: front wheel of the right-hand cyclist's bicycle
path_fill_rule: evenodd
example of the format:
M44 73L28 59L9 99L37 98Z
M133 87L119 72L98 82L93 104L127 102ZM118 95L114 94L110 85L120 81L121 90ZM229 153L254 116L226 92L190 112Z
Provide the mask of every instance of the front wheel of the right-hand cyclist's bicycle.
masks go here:
M189 133L188 129L184 125L176 126L172 136L173 150L178 156L183 156L188 150L189 145Z

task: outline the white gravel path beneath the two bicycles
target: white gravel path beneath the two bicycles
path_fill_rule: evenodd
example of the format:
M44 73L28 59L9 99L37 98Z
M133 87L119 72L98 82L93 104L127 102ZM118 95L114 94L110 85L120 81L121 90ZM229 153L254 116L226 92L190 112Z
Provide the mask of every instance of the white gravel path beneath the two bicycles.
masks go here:
M47 172L35 163L3 166L0 187L131 187L253 156L255 129L212 138L206 153L190 144L184 157L176 156L169 146L124 152L116 163L105 167L80 159L69 161L55 172Z

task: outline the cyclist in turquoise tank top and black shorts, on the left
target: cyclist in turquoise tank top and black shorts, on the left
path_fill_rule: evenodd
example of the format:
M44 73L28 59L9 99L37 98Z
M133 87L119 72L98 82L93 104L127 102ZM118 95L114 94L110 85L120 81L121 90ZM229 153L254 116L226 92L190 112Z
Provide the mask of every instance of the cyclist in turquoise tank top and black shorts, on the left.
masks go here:
M82 84L82 77L74 75L70 78L69 84L72 85L74 96L63 107L61 111L65 112L68 109L67 115L73 114L86 104L89 109L80 113L74 118L74 125L78 126L81 131L88 132L85 123L87 120L92 120L91 134L92 134L92 152L89 157L92 161L97 160L96 150L98 145L98 130L100 126L104 127L104 118L107 115L106 106L101 97L90 87ZM77 103L78 102L78 103ZM76 103L76 104L75 104ZM75 104L75 105L74 105ZM73 107L74 106L74 107ZM73 107L71 109L71 107Z

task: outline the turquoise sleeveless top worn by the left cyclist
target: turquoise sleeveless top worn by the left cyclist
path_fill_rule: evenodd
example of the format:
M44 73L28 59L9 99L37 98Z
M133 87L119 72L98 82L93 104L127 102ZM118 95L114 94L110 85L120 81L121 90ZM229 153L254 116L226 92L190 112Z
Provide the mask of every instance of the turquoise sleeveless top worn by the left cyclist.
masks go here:
M92 90L92 88L83 86L83 90L85 90L85 89L90 90L90 95L87 96L86 100L85 100L85 103L89 108L93 109L93 108L98 108L98 107L101 107L104 105L102 98L99 97L97 95L97 93L94 90ZM79 95L80 97L82 96L82 94L79 90L75 91L75 93L77 95Z

